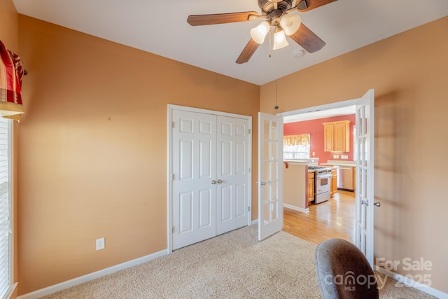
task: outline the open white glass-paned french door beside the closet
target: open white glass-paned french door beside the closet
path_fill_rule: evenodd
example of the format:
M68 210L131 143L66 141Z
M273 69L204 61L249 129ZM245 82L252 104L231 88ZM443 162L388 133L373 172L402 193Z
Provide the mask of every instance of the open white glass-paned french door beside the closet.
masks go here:
M258 239L283 228L283 117L258 113Z

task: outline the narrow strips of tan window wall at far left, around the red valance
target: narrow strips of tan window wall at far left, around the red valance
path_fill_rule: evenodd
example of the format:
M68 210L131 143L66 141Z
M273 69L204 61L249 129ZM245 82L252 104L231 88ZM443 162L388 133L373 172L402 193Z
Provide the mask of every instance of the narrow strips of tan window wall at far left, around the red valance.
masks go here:
M8 50L18 53L18 13L15 11L15 6L12 0L0 0L0 41L8 48ZM17 124L14 124L14 134L17 136ZM15 139L17 141L17 139ZM17 142L14 144L14 155L17 155ZM16 162L17 160L15 160ZM16 169L16 165L13 166ZM17 172L14 173L15 178L17 178ZM17 182L17 179L14 179ZM17 194L17 185L14 186L14 194ZM17 232L17 197L13 198L13 230ZM17 235L14 236L14 250L13 250L13 281L18 281L18 244ZM18 290L15 289L11 298L17 297Z

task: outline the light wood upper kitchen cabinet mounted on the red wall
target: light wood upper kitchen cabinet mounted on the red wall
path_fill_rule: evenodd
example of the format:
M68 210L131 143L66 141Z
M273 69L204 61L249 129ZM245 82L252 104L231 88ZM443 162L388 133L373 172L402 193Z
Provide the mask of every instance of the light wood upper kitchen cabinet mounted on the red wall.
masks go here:
M324 151L350 151L350 120L323 123Z

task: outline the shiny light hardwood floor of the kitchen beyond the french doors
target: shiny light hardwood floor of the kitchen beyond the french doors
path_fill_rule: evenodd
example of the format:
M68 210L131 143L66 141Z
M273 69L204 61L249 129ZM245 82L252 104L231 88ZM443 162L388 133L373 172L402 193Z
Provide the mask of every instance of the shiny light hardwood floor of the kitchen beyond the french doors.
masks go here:
M354 242L355 193L337 190L327 202L311 204L309 213L284 208L283 230L314 244L333 237Z

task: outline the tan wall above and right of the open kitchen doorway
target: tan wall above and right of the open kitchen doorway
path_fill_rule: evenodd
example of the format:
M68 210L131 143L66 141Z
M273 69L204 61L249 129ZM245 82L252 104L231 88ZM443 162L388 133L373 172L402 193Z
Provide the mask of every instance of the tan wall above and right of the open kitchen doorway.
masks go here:
M375 90L374 256L398 260L397 272L429 274L448 293L446 148L448 17L262 85L260 109L277 113L344 101ZM442 174L442 175L440 175ZM403 258L430 260L405 271Z

